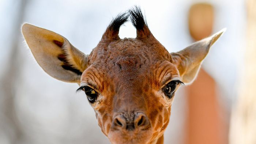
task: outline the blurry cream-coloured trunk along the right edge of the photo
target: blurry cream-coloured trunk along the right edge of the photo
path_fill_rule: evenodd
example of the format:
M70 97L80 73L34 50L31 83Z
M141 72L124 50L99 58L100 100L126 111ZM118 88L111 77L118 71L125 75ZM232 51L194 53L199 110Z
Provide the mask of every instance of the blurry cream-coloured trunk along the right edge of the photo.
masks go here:
M230 126L230 144L256 144L256 1L247 0L244 67Z

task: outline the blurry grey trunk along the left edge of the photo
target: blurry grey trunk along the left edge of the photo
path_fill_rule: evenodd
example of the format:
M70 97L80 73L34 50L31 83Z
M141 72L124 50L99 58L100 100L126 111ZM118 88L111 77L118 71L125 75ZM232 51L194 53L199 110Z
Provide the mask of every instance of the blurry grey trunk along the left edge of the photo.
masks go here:
M6 67L1 77L1 113L0 120L1 130L11 144L18 144L22 139L22 130L20 128L18 118L15 111L15 96L17 79L19 77L20 69L22 67L22 60L20 58L18 46L22 43L20 26L23 23L23 16L25 14L25 7L27 0L12 1L11 3L18 4L16 15L13 16L14 27L12 27L12 34L10 39L11 45L9 59L6 60ZM14 4L14 5L15 5Z

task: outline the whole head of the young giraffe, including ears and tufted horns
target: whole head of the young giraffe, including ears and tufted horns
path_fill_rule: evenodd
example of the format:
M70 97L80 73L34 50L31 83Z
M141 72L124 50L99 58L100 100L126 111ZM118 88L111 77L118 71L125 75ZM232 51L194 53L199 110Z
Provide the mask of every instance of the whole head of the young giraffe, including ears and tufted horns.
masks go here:
M137 37L120 39L119 28L129 18ZM112 143L135 144L160 142L175 92L195 79L223 31L169 53L135 7L112 20L89 55L46 29L24 24L22 33L46 73L80 85L78 91L85 92L98 125Z

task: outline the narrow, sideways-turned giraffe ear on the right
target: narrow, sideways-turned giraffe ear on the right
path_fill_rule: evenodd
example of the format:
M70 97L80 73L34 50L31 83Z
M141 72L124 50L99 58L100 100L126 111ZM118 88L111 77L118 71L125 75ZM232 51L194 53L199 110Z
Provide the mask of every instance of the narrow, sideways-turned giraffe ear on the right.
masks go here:
M225 31L226 28L215 33L211 37L193 43L180 52L171 53L173 64L177 66L182 82L193 82L210 47Z

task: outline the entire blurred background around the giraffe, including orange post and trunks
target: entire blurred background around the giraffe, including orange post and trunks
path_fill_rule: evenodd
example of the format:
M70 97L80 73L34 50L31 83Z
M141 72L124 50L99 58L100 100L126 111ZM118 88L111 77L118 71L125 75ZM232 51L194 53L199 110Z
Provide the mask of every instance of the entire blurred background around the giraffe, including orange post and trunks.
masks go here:
M169 52L227 28L195 82L176 93L165 144L256 143L254 0L0 0L0 144L109 144L78 84L48 76L20 27L52 30L89 54L133 5ZM130 22L120 37L136 37Z

